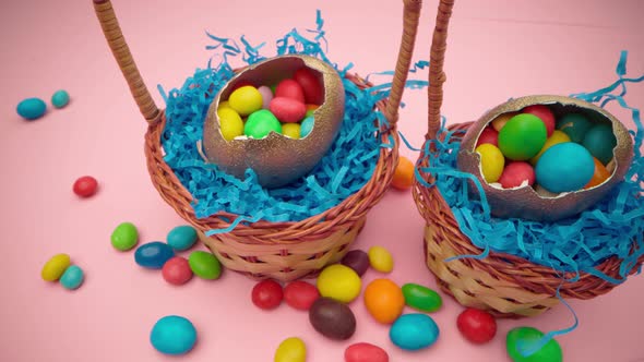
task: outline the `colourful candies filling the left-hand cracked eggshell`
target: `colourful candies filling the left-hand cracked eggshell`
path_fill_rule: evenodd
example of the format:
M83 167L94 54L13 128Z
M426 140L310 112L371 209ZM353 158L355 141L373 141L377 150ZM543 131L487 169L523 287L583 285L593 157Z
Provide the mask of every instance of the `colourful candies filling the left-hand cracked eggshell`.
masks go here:
M308 68L272 87L239 84L217 108L222 135L226 141L261 140L275 132L303 138L313 130L313 112L323 101L324 88Z

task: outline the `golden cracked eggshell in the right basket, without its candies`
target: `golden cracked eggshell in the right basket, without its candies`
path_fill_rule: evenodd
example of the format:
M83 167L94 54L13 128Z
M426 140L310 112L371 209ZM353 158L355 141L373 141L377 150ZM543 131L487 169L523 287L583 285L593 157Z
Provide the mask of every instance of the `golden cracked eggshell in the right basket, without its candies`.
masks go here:
M582 112L591 121L607 122L612 125L617 138L611 176L601 184L558 195L537 193L530 186L501 189L488 184L480 172L480 157L475 152L476 142L482 130L500 114L521 111L527 106L546 105L554 118L569 112ZM536 221L556 221L574 216L599 202L615 185L624 179L633 159L633 140L627 128L605 109L591 102L551 95L527 96L511 99L485 113L463 137L458 150L458 169L474 174L481 183L492 215L501 218L517 217Z

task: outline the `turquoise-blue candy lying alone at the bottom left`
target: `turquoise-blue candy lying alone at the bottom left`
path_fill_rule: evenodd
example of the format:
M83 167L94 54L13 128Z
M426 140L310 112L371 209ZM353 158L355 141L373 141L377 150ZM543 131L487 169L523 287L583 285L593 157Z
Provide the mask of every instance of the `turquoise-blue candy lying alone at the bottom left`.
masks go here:
M182 316L167 315L152 327L150 342L162 353L184 354L192 350L196 342L196 329Z

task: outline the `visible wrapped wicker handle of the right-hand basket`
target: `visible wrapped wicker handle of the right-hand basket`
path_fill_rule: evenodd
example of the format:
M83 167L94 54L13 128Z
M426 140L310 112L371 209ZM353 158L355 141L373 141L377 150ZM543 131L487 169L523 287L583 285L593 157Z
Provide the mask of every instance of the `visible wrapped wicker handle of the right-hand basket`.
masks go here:
M431 41L431 51L429 55L429 88L427 92L427 134L425 140L436 138L441 126L441 106L443 104L443 83L445 83L445 72L443 64L445 61L445 49L448 48L448 26L455 0L440 0L439 11L433 29Z

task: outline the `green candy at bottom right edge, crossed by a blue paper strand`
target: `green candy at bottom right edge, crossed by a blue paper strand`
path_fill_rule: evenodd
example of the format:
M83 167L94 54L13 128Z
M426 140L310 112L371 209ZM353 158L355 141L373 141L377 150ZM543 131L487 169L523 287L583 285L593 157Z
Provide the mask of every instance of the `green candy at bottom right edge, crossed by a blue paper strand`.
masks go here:
M533 327L516 327L511 329L505 337L505 348L513 362L561 362L563 354L559 342L550 339L540 350L523 357L518 351L520 343L523 348L529 348L544 337L544 333Z

